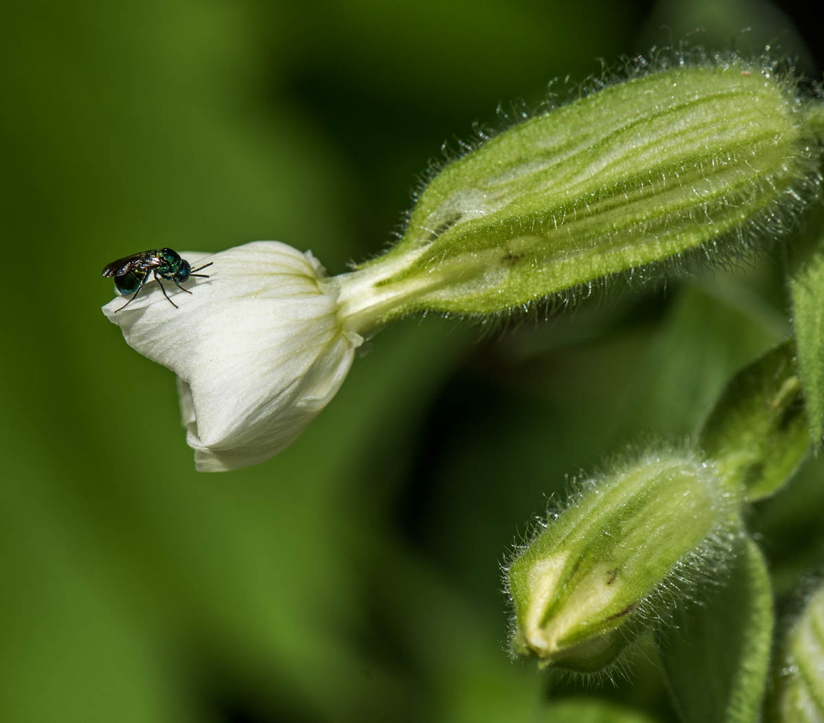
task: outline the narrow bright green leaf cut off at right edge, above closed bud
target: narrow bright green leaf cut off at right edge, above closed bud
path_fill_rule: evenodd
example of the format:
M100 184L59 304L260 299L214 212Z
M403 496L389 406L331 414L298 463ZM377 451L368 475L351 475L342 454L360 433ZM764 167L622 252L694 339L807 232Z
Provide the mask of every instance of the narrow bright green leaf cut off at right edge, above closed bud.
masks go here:
M820 444L824 434L824 246L795 271L789 292L809 432L813 444Z

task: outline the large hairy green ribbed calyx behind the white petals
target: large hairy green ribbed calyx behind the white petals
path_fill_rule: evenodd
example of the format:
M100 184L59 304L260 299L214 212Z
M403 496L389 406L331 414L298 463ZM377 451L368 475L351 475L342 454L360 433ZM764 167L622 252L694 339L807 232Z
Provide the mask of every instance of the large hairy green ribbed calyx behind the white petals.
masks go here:
M775 70L641 74L503 131L433 177L400 242L354 272L355 306L503 312L775 236L817 192L822 136L820 101Z

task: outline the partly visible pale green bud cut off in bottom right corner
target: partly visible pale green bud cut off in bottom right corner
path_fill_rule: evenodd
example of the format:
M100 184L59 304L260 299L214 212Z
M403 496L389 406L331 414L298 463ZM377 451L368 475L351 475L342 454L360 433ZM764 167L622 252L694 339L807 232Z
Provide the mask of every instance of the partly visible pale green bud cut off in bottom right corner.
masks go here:
M824 721L824 587L790 631L781 673L779 720Z

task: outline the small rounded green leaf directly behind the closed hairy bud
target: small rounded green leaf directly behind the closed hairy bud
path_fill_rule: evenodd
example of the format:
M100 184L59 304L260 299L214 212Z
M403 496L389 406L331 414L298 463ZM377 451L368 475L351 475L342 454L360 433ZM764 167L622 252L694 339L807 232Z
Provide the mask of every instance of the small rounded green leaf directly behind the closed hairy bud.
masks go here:
M801 385L786 341L738 372L700 430L700 446L748 500L779 490L809 448Z

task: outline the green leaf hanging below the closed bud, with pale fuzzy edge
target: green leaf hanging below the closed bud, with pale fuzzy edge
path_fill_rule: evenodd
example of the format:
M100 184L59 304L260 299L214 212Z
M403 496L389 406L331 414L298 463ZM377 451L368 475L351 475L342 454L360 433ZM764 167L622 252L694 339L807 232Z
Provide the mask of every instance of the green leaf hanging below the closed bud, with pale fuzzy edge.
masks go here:
M773 604L764 557L750 539L705 605L676 615L662 640L673 703L684 723L753 723L770 662Z

